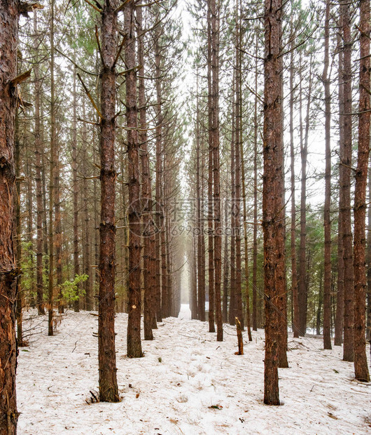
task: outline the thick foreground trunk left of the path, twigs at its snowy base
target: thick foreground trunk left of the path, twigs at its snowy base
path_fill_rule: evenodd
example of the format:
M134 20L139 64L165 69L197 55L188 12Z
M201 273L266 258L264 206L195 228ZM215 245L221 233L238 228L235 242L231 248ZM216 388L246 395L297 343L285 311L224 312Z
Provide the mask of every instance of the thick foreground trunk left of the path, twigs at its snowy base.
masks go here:
M101 29L101 222L99 225L99 399L118 402L115 348L115 138L118 2L105 0Z

